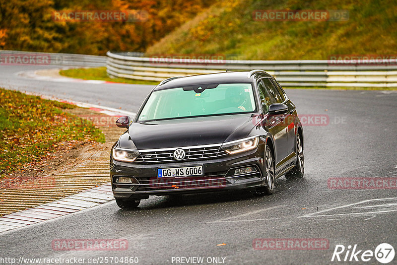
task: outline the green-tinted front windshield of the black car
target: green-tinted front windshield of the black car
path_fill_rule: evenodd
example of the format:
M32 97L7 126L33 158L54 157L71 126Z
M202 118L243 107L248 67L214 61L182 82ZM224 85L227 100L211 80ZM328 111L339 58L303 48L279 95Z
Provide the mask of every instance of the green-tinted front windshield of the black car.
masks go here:
M138 121L255 111L251 83L206 84L153 91Z

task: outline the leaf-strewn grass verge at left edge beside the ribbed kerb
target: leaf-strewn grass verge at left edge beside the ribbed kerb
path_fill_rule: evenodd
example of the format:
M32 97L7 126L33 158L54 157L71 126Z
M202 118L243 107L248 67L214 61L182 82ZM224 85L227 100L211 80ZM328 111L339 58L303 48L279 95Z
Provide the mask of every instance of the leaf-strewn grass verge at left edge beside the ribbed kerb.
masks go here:
M76 106L0 88L0 179L48 157L61 142L104 142L93 123L63 109Z

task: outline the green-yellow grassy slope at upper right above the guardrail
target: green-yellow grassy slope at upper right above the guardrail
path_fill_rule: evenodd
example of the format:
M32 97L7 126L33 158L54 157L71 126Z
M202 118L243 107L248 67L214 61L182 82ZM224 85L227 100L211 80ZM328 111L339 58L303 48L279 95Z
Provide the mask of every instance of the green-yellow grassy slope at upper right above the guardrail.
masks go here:
M346 10L342 21L256 20L256 10ZM240 60L327 60L397 53L396 0L229 0L214 3L147 49Z

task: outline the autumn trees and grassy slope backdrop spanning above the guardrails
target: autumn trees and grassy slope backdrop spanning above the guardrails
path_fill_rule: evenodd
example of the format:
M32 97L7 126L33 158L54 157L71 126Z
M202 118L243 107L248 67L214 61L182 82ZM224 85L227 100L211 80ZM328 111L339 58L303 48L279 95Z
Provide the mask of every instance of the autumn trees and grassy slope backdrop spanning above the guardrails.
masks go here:
M140 10L143 21L63 21L56 11ZM342 21L255 19L257 10L345 10ZM397 51L395 0L0 1L0 49L221 54L240 60L326 60Z

